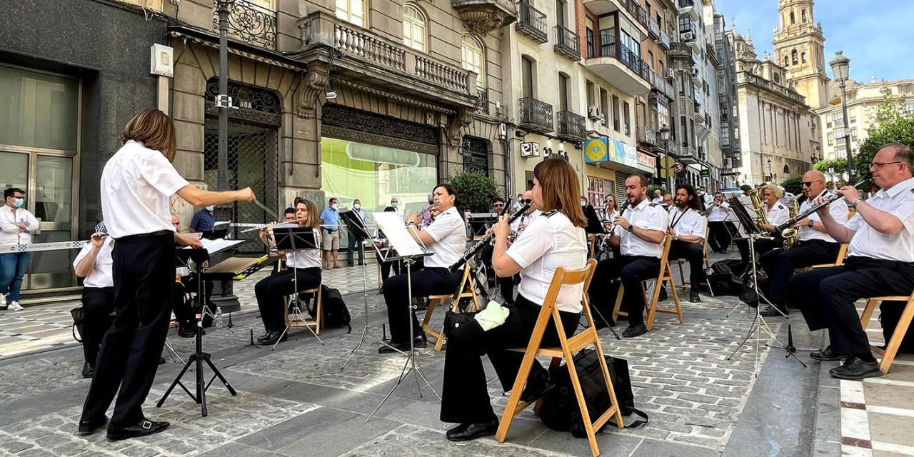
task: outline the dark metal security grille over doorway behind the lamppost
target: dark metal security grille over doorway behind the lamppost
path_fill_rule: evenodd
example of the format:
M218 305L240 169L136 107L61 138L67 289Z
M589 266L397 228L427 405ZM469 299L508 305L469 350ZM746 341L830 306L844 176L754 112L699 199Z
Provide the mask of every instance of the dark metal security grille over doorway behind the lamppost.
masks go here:
M217 188L218 179L218 121L207 116L204 138L204 180L211 189ZM275 126L261 126L249 122L228 122L228 188L240 189L247 186L254 191L258 201L271 208L268 214L250 202L238 202L216 209L217 220L262 224L277 220L279 201L278 183L278 132ZM252 239L253 242L239 246L241 254L257 254L265 251L257 239L257 231L240 233L243 228L231 228L232 238Z

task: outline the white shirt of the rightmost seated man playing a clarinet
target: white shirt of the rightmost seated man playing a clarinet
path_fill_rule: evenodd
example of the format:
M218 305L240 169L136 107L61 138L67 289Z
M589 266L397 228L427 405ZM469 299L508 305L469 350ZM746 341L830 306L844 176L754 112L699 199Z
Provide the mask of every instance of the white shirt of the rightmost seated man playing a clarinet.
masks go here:
M866 200L866 205L901 219L904 228L898 235L885 235L870 227L863 216L856 214L845 226L855 230L847 255L914 262L914 178L904 180L888 191L880 189Z

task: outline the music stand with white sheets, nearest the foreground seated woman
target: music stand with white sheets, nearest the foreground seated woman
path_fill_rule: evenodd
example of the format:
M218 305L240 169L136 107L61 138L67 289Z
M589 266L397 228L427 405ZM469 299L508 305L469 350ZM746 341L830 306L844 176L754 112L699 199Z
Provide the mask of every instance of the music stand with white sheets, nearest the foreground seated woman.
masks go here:
M409 354L406 355L406 361L403 364L403 370L400 371L400 375L397 378L397 383L390 389L388 395L384 396L384 399L381 399L381 402L377 404L375 410L371 411L371 414L369 414L368 418L365 420L366 422L375 416L377 410L381 409L381 406L383 406L390 396L393 395L394 390L399 388L403 379L406 379L406 377L409 376L409 372L412 372L416 377L416 385L419 387L420 398L422 397L422 389L419 383L419 378L421 377L422 381L425 382L425 385L431 390L431 393L435 394L435 397L438 397L438 399L441 400L441 396L431 387L429 380L422 374L421 367L416 362L416 329L412 324L413 314L416 312L416 307L412 303L412 265L417 260L428 257L432 253L426 250L425 247L420 246L420 244L412 238L412 235L407 228L403 226L403 222L399 220L396 213L373 213L372 216L375 218L377 226L384 230L391 247L398 252L396 256L382 257L381 259L383 261L401 260L403 264L406 265L406 290L407 303L409 306L409 313L407 313L407 319L409 320ZM385 343L385 345L387 345L387 343Z

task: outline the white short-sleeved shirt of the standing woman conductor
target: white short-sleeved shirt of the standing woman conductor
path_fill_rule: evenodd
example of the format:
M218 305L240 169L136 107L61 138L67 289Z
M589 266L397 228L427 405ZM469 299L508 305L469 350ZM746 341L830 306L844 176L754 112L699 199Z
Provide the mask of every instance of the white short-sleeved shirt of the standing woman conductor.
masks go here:
M168 198L187 181L159 151L133 140L108 159L101 172L101 212L108 235L175 231Z

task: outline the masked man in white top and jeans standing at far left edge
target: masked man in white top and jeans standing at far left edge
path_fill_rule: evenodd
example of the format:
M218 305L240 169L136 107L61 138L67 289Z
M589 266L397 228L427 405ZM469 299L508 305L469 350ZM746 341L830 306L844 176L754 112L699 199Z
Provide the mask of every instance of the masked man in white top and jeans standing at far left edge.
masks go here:
M26 191L10 187L3 191L3 197L5 205L0 207L0 246L28 246L32 243L32 233L38 229L38 219L24 208ZM22 309L19 290L31 260L31 252L0 254L0 309L7 309L7 306L13 311Z

